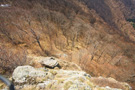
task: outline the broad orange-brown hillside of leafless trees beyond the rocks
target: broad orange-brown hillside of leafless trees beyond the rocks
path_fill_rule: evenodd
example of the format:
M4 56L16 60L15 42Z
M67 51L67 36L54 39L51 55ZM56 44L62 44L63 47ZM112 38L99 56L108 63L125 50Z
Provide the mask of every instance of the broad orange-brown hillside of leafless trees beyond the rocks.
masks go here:
M133 86L135 45L131 23L115 0L85 1L1 1L11 5L0 7L1 59L12 62L21 57L9 52L11 49L55 56L77 63L93 76L113 77Z

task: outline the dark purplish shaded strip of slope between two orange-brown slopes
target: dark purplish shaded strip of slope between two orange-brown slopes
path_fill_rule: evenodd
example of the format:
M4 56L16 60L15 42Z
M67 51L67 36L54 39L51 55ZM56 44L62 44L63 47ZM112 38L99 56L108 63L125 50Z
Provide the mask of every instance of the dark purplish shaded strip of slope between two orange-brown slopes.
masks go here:
M83 0L82 0L83 1ZM90 9L94 9L109 25L117 28L113 22L113 12L104 0L84 0Z

